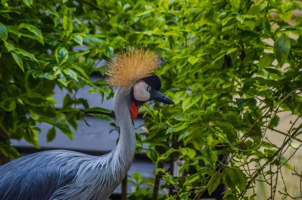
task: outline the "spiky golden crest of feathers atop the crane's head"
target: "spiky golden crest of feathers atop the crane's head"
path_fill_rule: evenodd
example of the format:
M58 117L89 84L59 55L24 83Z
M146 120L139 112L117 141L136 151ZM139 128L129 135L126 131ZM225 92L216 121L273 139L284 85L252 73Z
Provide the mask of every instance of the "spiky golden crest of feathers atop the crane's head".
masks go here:
M151 76L160 64L159 55L149 49L125 50L109 62L106 81L113 87L129 91L138 80Z

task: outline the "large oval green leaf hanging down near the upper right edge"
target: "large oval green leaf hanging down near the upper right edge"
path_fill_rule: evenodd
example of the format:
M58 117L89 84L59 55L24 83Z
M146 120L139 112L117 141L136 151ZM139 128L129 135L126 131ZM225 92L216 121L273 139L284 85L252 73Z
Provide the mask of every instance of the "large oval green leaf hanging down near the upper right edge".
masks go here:
M283 34L282 36L277 38L274 44L274 54L276 56L276 59L280 67L282 67L284 62L286 61L289 54L289 50L290 50L289 39L286 35Z

